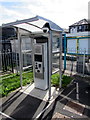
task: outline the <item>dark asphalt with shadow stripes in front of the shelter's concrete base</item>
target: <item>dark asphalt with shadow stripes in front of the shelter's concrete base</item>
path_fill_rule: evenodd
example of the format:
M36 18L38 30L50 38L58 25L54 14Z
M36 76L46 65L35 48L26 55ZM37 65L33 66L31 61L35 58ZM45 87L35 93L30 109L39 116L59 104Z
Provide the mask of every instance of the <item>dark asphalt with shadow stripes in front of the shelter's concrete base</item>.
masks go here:
M10 94L2 102L2 113L4 113L2 115L7 119L11 117L12 120L13 118L15 120L35 118L48 104L20 91Z

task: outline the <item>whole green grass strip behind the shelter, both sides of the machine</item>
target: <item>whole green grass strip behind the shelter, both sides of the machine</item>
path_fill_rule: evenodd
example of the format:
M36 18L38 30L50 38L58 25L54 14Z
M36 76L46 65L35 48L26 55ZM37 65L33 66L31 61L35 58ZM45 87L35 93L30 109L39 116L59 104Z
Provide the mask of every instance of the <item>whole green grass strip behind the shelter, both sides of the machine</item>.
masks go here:
M0 97L7 96L8 93L20 87L20 75L10 74L10 75L5 75L2 78L3 79L0 79ZM23 81L22 81L23 86L32 83L33 72L27 71L26 73L23 73L22 78L23 78ZM58 87L59 79L60 79L60 75L58 73L52 75L51 84L53 86ZM62 87L63 88L66 87L71 82L71 80L72 78L70 76L63 75Z

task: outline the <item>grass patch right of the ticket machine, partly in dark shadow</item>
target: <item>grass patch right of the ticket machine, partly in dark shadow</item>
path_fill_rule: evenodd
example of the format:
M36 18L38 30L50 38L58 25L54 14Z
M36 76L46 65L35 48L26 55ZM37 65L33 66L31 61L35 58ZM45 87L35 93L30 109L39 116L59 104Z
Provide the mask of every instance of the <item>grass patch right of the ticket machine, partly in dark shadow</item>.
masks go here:
M53 86L59 86L60 75L58 73L52 75L51 84ZM72 77L67 75L62 75L62 87L65 88L72 81Z

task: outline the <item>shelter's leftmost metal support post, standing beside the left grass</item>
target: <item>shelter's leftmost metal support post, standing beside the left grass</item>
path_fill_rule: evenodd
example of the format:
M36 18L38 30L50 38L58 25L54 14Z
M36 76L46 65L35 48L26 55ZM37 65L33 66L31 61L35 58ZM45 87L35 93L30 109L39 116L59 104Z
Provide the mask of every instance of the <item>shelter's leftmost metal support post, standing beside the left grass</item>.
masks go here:
M21 35L19 33L19 28L18 28L18 41L19 41L19 68L20 68L20 85L21 85L21 89L22 89L22 39L21 39Z

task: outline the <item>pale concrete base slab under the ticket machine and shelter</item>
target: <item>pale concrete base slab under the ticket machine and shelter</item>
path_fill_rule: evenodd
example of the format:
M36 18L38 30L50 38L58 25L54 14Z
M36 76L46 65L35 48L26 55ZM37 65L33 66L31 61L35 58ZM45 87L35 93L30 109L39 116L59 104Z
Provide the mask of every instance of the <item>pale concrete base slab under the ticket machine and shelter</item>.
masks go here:
M23 92L27 95L33 96L35 98L41 99L43 101L47 101L49 98L49 90L41 90L38 88L35 88L34 83L29 86L25 86L20 90L20 92ZM58 91L55 87L51 87L51 101L54 100L58 96Z

